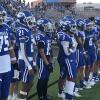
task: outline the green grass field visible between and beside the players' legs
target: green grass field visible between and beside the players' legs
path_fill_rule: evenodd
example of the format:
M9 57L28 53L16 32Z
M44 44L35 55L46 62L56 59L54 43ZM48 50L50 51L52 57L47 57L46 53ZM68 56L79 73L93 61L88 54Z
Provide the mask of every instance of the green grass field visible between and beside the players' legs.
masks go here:
M54 72L50 76L49 84L56 81L59 77L59 66L56 63L56 67L54 69ZM37 95L32 97L32 94L36 92L36 82L37 82L37 76L35 77L33 83L34 86L32 87L29 96L31 96L30 100L38 100ZM48 88L48 94L52 96L52 100L62 100L61 98L57 97L58 93L58 85L57 83L52 85ZM74 98L74 100L100 100L100 83L96 84L92 89L84 89L83 91L80 91L80 94L82 95L81 98Z

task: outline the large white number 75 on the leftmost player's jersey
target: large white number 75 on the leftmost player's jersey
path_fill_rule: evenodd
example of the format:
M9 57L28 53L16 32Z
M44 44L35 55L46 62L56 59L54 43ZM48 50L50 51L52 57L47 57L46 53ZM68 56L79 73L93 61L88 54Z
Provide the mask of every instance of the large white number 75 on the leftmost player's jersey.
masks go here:
M3 48L3 45L5 45L6 47ZM1 50L8 51L8 46L9 46L8 36L0 36L0 52Z

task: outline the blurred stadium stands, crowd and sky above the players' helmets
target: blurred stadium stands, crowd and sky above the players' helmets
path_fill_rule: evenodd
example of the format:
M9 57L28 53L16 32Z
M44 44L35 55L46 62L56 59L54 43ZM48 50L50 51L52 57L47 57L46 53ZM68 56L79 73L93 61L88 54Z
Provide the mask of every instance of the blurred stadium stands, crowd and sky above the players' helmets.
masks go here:
M30 10L36 18L59 20L62 16L75 18L100 14L100 0L0 0L7 12L15 16L19 10Z

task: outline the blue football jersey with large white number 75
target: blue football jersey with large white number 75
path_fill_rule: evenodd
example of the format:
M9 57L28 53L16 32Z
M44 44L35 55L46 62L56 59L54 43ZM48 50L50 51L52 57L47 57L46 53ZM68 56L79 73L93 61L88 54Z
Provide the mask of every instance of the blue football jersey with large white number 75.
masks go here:
M12 31L7 24L0 26L0 56L8 54Z

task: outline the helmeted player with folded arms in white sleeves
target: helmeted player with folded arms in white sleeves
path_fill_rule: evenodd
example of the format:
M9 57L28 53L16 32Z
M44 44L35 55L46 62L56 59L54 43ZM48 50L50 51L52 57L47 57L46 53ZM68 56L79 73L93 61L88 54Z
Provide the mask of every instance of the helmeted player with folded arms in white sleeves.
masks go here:
M62 55L60 61L62 61L64 68L63 75L65 75L64 77L66 78L64 89L65 100L72 100L77 73L77 42L74 37L74 34L76 33L75 21L72 19L62 21L61 28L63 34L58 36L58 40L59 50Z

